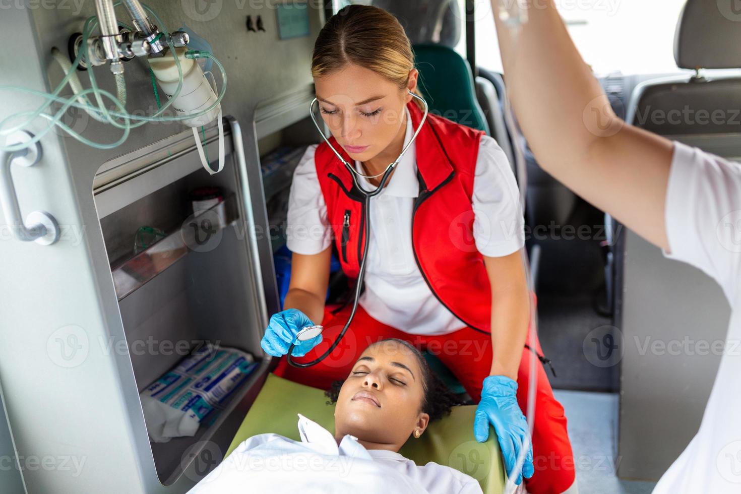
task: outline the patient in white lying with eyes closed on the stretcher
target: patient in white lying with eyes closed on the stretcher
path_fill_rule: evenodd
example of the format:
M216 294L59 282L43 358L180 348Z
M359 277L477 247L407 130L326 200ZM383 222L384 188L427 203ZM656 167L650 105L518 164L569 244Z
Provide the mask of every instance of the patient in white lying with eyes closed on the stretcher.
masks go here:
M301 442L255 435L190 494L482 492L469 475L433 462L417 466L398 453L456 404L410 344L372 344L326 394L336 404L334 435L299 414Z

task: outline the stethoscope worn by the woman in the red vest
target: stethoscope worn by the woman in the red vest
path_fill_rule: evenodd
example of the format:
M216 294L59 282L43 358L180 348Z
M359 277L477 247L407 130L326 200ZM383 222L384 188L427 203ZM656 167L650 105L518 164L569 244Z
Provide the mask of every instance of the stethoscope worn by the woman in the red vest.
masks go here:
M384 170L382 173L379 173L378 175L363 175L362 173L359 173L358 170L353 167L348 161L345 161L345 158L342 158L342 155L337 152L337 150L334 148L334 146L330 143L327 136L325 136L324 131L322 130L322 127L319 127L319 122L316 121L316 116L314 115L314 104L316 104L318 99L314 98L311 101L311 104L309 105L309 114L311 116L311 120L314 122L314 126L316 127L316 130L319 130L319 134L322 136L322 138L325 140L327 145L330 147L330 149L334 152L334 154L339 158L339 161L342 161L342 164L345 164L345 167L350 170L350 176L353 178L353 183L355 184L355 187L362 193L364 196L363 200L363 222L365 224L365 228L363 229L363 235L365 236L365 239L363 241L363 254L360 259L360 272L358 273L358 279L355 284L355 300L353 301L353 310L350 311L350 316L348 317L348 321L345 323L345 327L342 327L342 331L339 332L339 336L337 336L337 339L334 341L334 343L328 348L325 353L322 353L319 357L315 358L313 361L306 362L304 364L299 364L297 362L293 361L293 358L291 356L291 352L293 352L293 347L296 346L296 343L299 341L308 341L311 338L316 338L316 336L319 336L322 334L322 331L324 330L324 327L322 327L321 324L315 324L313 326L306 326L302 327L302 329L296 333L296 336L293 337L293 343L290 344L290 347L288 347L288 364L292 365L293 367L311 367L313 365L319 364L322 360L327 358L330 353L332 353L332 350L334 350L340 341L342 341L342 338L345 336L345 333L348 332L348 328L350 327L350 323L353 321L353 318L355 318L355 313L358 308L358 300L360 298L360 291L362 290L363 285L363 278L365 277L365 260L368 258L368 239L371 237L371 198L373 196L378 196L379 193L383 190L383 188L386 185L386 182L388 181L389 177L391 176L391 173L393 172L393 169L396 168L396 165L399 164L399 161L402 161L402 158L404 157L405 153L411 147L412 144L414 144L414 141L416 141L417 136L419 136L419 131L422 130L422 126L425 125L425 121L427 121L427 114L429 111L429 107L427 104L427 101L422 98L422 96L417 96L416 94L409 91L409 94L413 97L418 99L419 101L422 101L422 104L425 105L425 115L422 116L422 121L419 122L419 127L417 127L417 130L414 132L414 135L408 142L408 144L402 149L402 153L399 155L398 158L396 158L396 161L393 161L393 163L389 164L388 167L386 167L386 170ZM376 187L376 190L368 191L365 190L362 185L360 184L359 177L362 178L378 178L382 177L381 181L379 183L379 186Z

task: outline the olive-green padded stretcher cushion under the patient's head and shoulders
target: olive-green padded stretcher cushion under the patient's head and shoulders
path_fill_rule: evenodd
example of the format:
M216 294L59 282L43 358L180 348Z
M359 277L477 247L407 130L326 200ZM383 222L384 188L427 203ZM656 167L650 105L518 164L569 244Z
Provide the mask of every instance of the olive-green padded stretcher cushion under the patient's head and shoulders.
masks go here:
M227 450L229 455L253 435L276 433L300 441L298 413L334 433L334 405L327 404L324 391L269 374L250 411ZM499 444L494 430L489 440L473 438L476 407L454 407L451 415L431 422L419 439L411 438L399 451L418 465L429 461L448 465L479 481L485 494L501 494L505 485Z

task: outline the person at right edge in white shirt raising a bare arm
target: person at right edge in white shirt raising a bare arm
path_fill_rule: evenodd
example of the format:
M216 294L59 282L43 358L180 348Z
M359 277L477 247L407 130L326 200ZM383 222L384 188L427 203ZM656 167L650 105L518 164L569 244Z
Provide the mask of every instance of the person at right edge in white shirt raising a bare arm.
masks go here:
M492 0L494 12L508 4ZM677 60L691 59L685 64L695 67L708 62L741 67L740 24L731 8L720 1L688 0L677 41L689 36L691 42L675 45ZM727 341L739 341L740 164L626 124L579 56L554 1L542 1L526 14L521 25L510 23L514 29L495 16L496 31L512 105L539 164L661 247L665 256L714 278L733 307ZM701 38L705 44L698 43ZM739 410L741 358L724 351L700 429L654 494L740 492Z

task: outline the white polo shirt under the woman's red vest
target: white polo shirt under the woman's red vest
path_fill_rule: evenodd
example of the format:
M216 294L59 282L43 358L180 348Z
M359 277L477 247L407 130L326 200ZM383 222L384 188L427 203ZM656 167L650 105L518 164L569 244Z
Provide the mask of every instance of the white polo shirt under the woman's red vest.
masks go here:
M404 145L413 136L407 110ZM376 321L405 333L436 335L465 327L431 292L412 250L412 210L419 195L416 149L412 145L382 193L371 198L371 236L365 267L365 292L359 304ZM316 145L306 150L293 174L288 205L288 249L318 254L333 238L322 189L316 176ZM355 162L362 172L361 164ZM375 190L364 178L365 190ZM484 256L514 253L525 244L519 190L502 148L483 136L473 180L473 239ZM422 247L424 248L424 247Z

